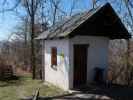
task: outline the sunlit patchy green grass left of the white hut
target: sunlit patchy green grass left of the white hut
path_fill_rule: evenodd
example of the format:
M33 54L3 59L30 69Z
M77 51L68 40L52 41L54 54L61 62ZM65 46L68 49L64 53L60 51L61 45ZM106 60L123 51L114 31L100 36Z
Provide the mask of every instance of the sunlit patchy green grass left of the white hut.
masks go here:
M40 96L55 96L64 93L55 86L44 85L41 80L32 80L30 75L26 75L14 80L0 81L0 100L19 100L32 96L38 87L41 87Z

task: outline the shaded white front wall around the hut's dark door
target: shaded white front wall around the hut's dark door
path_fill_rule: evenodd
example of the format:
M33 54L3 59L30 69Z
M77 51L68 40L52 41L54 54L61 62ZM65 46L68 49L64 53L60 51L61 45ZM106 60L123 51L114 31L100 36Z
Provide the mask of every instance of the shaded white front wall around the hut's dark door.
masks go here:
M69 71L69 88L73 88L73 45L74 44L89 44L88 58L87 58L87 83L93 81L94 68L104 68L104 78L108 68L108 45L109 38L98 36L75 36L70 39L69 57L70 57L70 71Z

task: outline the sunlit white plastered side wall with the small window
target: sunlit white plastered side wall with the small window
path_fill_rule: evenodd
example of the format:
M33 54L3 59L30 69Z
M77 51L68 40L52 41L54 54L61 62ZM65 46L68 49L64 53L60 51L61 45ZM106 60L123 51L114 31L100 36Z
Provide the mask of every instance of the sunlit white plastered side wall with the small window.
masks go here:
M57 68L51 67L51 48L57 48ZM69 40L45 41L45 80L65 90L69 89Z

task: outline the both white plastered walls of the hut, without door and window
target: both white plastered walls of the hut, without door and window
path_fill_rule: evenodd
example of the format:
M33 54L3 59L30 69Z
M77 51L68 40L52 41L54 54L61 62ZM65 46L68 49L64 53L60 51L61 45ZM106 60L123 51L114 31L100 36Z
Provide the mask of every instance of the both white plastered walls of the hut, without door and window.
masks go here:
M93 81L94 68L108 68L109 38L98 36L75 36L71 39L46 40L45 47L45 81L65 90L73 88L73 45L89 44L87 58L87 83ZM51 67L51 48L57 48L57 69ZM64 56L62 56L62 54Z

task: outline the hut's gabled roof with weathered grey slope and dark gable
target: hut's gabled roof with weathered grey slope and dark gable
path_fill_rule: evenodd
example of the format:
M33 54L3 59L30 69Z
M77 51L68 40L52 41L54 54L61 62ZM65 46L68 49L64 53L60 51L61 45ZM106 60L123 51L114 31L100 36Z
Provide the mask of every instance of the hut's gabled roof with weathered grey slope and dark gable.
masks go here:
M37 39L64 38L74 35L106 36L111 39L131 37L111 5L107 3L102 7L78 13L64 22L57 23Z

